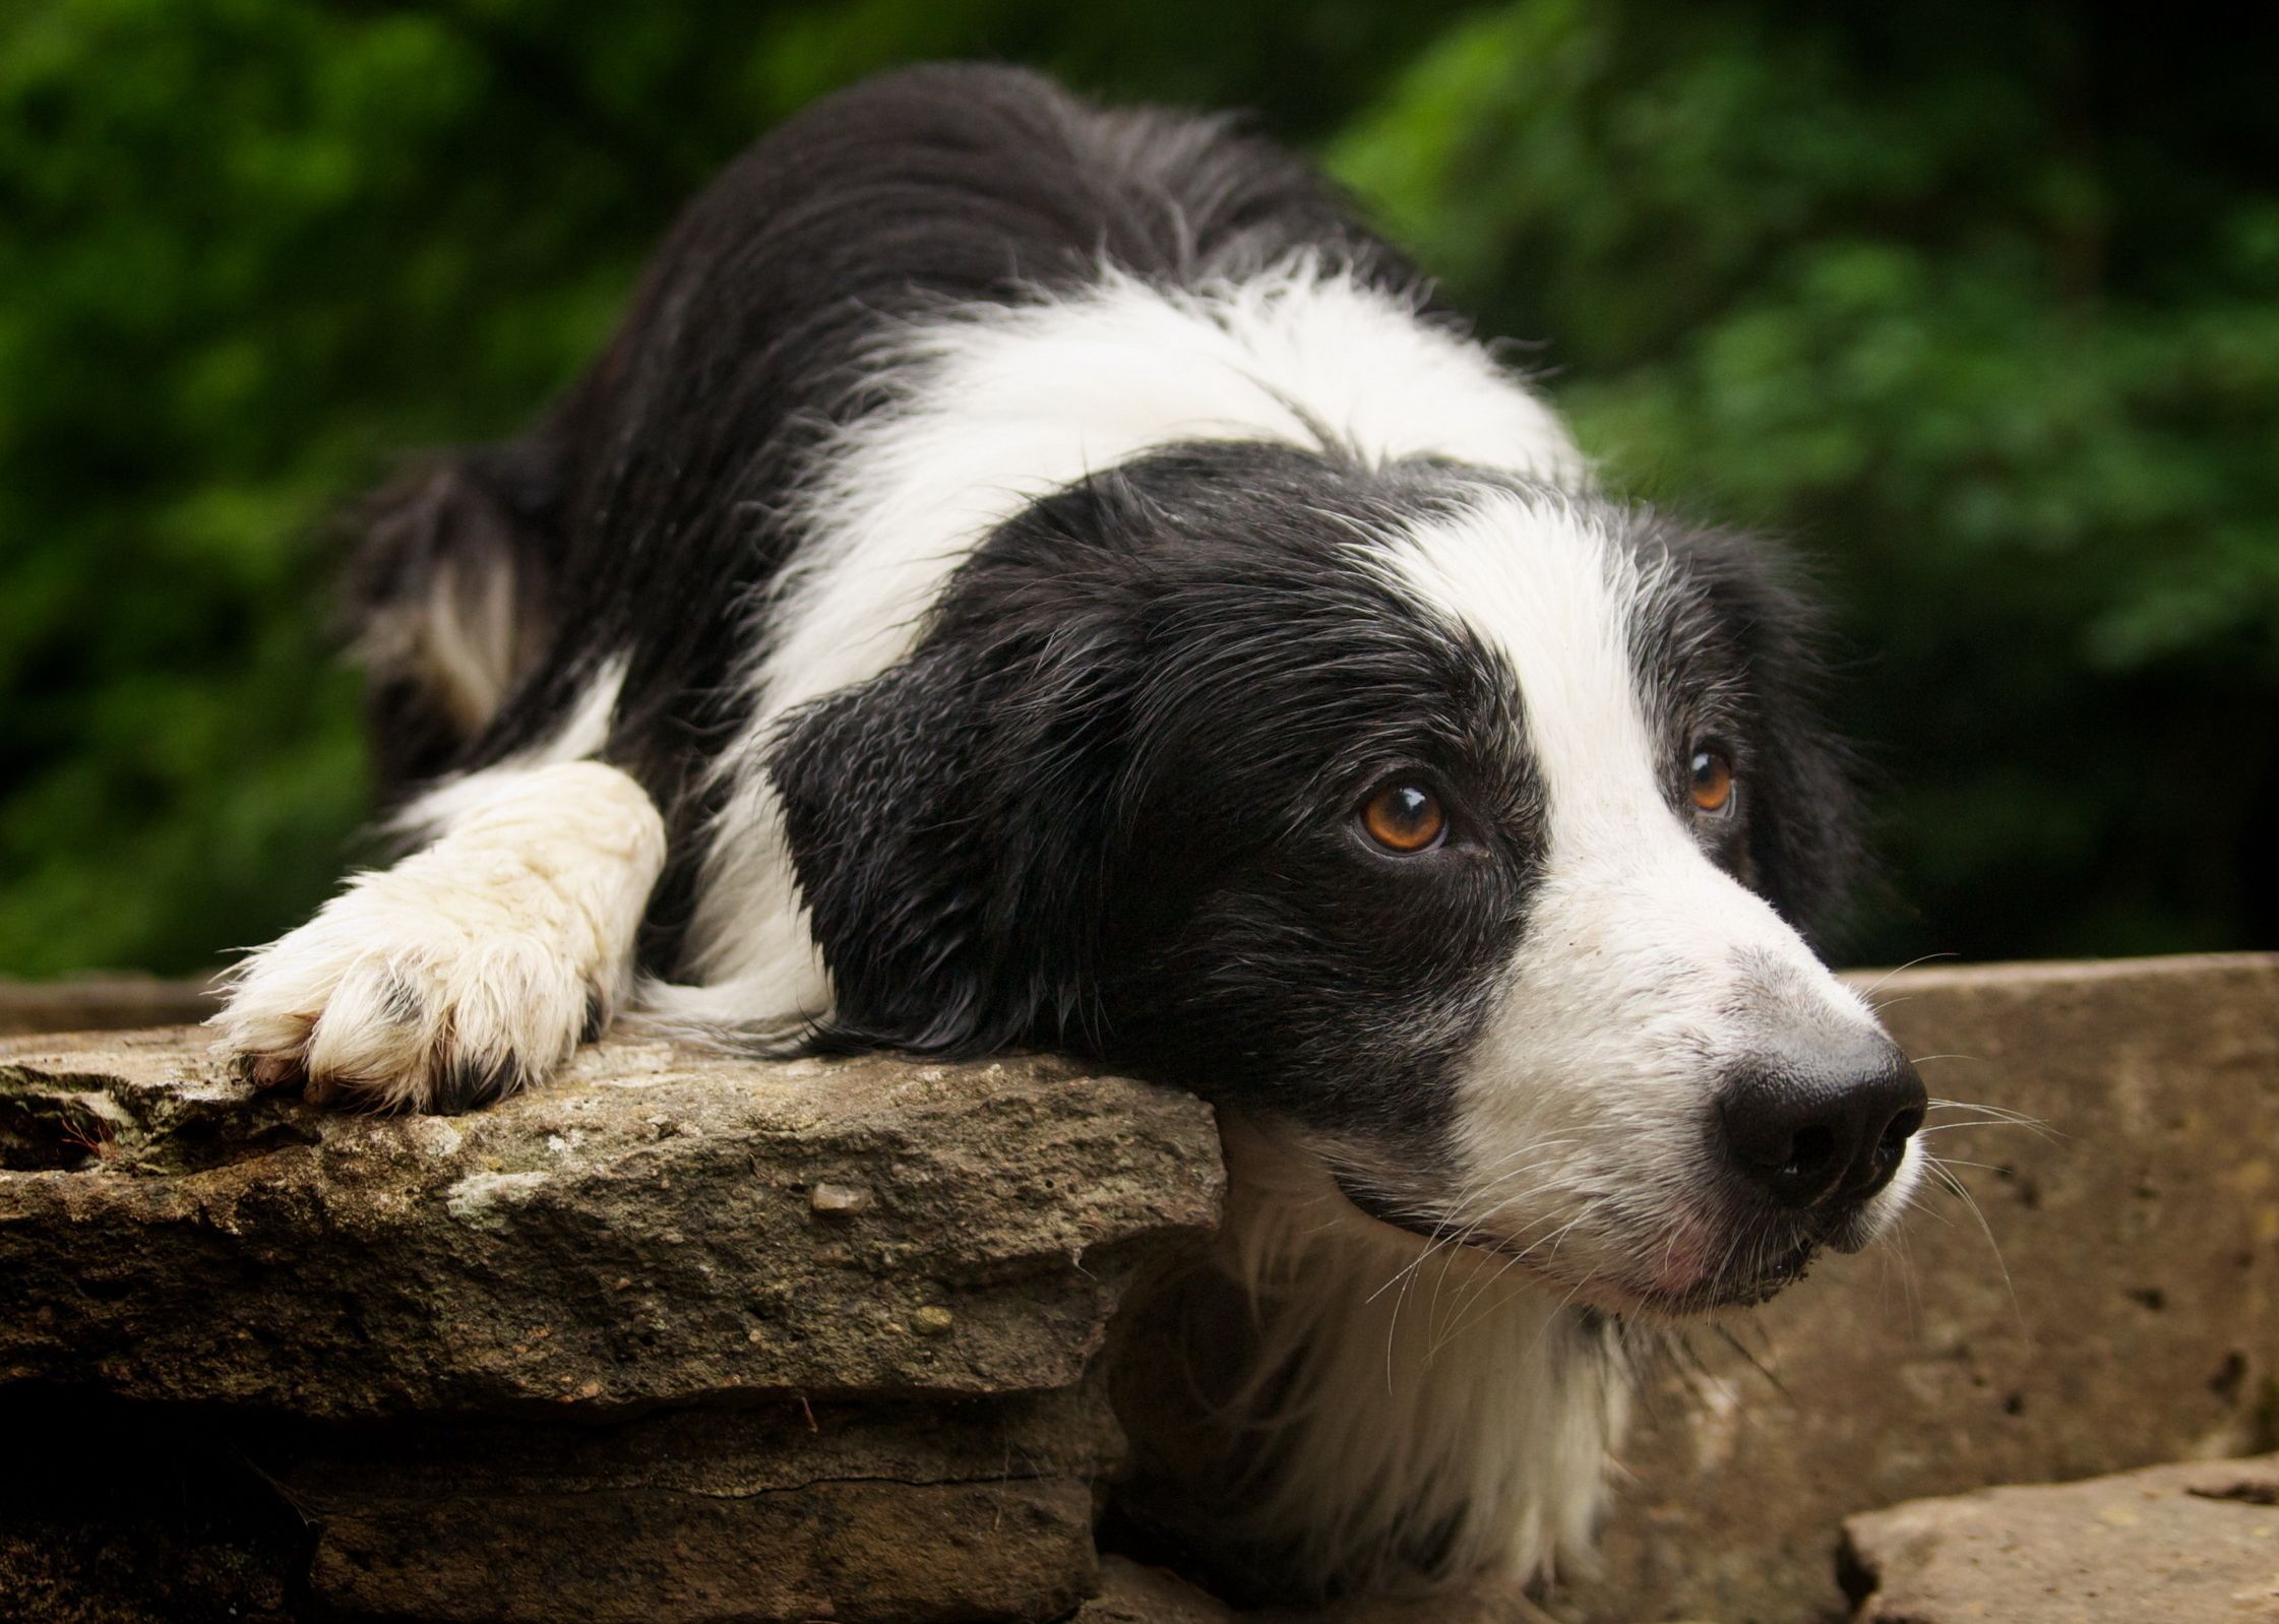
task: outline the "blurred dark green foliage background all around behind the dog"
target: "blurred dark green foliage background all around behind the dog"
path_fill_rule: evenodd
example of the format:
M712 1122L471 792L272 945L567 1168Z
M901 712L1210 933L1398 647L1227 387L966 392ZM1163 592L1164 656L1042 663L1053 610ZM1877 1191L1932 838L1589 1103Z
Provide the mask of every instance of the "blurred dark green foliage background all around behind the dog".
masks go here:
M2165 30L2174 30L2174 36ZM1253 107L1627 492L1791 538L1848 950L2279 945L2279 66L2158 9L0 7L0 973L189 970L365 804L326 517L513 430L704 178L891 61Z

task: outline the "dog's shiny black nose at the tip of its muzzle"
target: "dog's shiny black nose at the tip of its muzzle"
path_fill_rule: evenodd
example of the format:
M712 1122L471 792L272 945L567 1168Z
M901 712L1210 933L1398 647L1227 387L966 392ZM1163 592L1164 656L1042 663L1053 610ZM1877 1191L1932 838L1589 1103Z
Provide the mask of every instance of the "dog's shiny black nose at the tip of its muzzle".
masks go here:
M1782 1207L1860 1203L1892 1182L1923 1125L1923 1080L1882 1034L1769 1055L1725 1084L1734 1164Z

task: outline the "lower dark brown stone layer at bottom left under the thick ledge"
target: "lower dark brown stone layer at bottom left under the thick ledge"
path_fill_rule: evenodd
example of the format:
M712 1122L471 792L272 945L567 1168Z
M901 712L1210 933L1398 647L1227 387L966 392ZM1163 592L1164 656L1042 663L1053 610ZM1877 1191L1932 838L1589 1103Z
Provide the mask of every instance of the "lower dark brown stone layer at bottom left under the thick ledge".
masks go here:
M310 1424L0 1394L16 1624L1046 1624L1096 1588L1096 1383Z

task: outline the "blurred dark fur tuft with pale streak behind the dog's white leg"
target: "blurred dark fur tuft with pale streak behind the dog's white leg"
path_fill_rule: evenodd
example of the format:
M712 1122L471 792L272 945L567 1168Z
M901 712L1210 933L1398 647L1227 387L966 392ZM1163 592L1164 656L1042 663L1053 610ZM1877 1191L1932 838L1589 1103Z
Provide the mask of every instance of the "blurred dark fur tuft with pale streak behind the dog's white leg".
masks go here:
M381 802L449 772L554 635L561 478L542 437L428 456L349 515Z

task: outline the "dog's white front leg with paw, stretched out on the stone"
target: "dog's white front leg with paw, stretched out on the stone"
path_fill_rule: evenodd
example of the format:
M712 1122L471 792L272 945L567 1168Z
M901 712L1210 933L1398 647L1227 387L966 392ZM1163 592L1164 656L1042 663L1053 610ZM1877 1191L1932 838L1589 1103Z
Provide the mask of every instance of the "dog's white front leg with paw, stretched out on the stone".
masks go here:
M488 768L417 809L435 838L251 954L214 1025L260 1086L456 1112L561 1066L627 991L665 859L647 793L599 761Z

